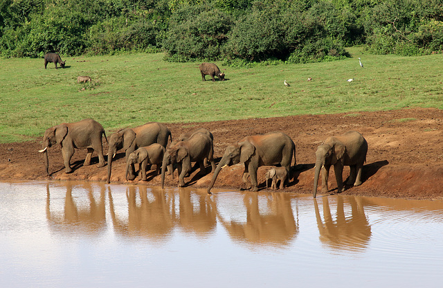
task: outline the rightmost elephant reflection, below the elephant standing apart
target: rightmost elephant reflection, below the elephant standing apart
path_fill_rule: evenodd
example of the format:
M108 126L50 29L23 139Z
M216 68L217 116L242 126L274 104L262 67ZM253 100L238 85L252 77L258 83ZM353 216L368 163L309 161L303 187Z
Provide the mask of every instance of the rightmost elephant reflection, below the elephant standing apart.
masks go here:
M314 199L314 208L320 241L332 249L360 250L368 246L371 227L363 210L361 198L347 197L351 206L351 215L345 215L344 197L337 196L337 213L334 221L329 208L328 197L323 197L323 221L318 204Z

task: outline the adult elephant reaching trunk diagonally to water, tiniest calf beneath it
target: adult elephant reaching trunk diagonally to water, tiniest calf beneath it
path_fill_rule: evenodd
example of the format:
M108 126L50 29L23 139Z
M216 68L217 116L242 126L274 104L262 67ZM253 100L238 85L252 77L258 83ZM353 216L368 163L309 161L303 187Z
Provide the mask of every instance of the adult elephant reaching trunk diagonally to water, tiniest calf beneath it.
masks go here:
M208 193L213 188L215 180L226 165L244 163L243 182L251 177L251 190L257 191L257 170L262 165L280 164L289 172L292 156L296 165L296 145L292 139L282 132L270 132L263 135L246 136L234 145L228 145L213 179L208 186Z

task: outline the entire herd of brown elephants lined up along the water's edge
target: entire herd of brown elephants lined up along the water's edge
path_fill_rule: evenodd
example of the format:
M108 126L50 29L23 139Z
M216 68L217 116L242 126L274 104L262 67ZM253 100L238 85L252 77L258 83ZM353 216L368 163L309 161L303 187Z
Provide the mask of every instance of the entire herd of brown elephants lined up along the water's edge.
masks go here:
M206 171L206 161L210 162L213 177L207 188L209 194L222 168L226 165L244 163L242 180L251 181L251 190L258 190L257 170L262 165L275 165L266 172L266 188L272 179L271 188L276 188L280 181L280 189L289 182L292 158L296 165L296 145L292 139L282 132L269 132L262 135L246 136L235 144L228 145L218 165L214 161L214 137L207 129L199 128L183 133L172 141L170 129L162 123L146 123L144 125L120 129L109 136L109 141L102 125L93 119L84 119L75 123L62 123L46 129L43 138L46 173L48 169L48 147L59 144L62 148L65 172L72 172L71 158L75 149L87 149L84 165L90 165L92 153L98 154L98 167L105 166L102 151L102 136L109 144L107 153L107 183L111 179L112 161L118 150L126 153L126 179L136 178L135 164L138 163L138 174L146 181L148 164L156 165L157 174L161 173L161 186L165 182L166 170L174 179L174 166L179 173L179 187L185 186L184 178L191 170L191 163L198 162L200 173ZM168 142L170 141L169 145ZM329 168L334 165L338 192L344 190L343 166L350 166L350 177L347 185L361 184L361 170L368 152L368 143L359 132L350 131L343 136L327 138L316 151L313 197L316 197L318 177L322 171L322 190L328 191L327 180ZM278 167L277 167L278 166ZM160 172L161 167L161 172ZM322 169L323 168L323 169Z

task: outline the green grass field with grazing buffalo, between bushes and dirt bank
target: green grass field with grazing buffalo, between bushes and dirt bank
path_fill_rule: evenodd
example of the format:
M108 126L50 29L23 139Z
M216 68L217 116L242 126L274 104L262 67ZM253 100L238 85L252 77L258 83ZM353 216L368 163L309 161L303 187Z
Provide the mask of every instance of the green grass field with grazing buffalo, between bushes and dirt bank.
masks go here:
M442 55L347 50L352 58L336 62L251 69L217 63L227 81L215 83L201 81L198 63L164 62L162 53L62 57L67 68L57 70L53 63L45 70L43 59L1 59L0 143L33 139L48 127L83 118L97 120L108 132L148 121L443 108ZM78 75L93 80L78 84Z

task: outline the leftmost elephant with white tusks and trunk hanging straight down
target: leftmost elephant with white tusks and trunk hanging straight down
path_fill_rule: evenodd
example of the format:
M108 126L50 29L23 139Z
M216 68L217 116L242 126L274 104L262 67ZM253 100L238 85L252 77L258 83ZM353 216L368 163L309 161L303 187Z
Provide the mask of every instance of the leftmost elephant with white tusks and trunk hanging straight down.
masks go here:
M98 154L98 167L105 166L105 157L103 157L102 136L105 136L105 129L102 125L93 119L84 119L75 123L62 123L46 129L43 137L43 148L39 152L44 153L46 173L49 175L48 165L48 147L60 144L64 159L64 168L66 173L71 173L71 158L75 149L87 148L88 152L84 159L84 166L91 164L92 152Z

